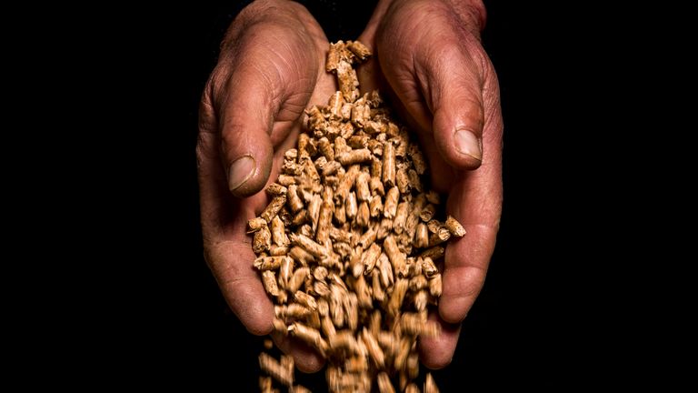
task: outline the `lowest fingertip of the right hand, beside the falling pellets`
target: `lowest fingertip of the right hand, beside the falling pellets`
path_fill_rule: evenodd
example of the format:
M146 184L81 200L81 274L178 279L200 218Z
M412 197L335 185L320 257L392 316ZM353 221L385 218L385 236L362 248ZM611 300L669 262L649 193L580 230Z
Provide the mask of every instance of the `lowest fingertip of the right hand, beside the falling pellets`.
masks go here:
M441 326L441 334L436 338L419 338L419 355L424 366L431 369L444 368L454 358L455 346L461 333L461 324L445 323L435 313L429 319Z

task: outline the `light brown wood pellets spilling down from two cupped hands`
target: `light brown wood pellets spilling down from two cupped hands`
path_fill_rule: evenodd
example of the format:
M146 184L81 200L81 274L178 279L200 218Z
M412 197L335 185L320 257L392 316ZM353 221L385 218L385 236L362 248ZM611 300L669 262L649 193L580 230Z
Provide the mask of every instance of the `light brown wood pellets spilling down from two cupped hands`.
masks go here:
M326 70L339 91L305 111L297 148L266 187L271 203L249 220L274 331L303 340L327 360L330 392L419 392L417 338L442 293L434 261L463 237L434 214L422 152L377 91L361 96L354 67L371 55L357 41L330 45ZM309 391L294 384L293 358L262 353L263 392ZM431 374L423 391L437 392Z

